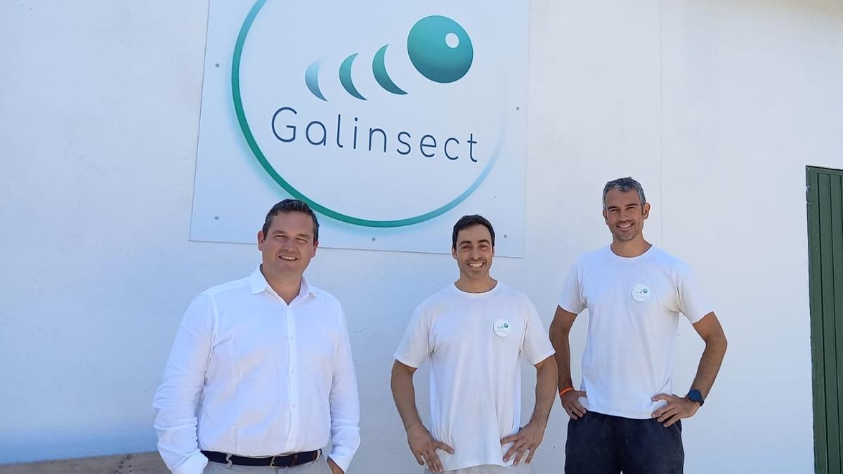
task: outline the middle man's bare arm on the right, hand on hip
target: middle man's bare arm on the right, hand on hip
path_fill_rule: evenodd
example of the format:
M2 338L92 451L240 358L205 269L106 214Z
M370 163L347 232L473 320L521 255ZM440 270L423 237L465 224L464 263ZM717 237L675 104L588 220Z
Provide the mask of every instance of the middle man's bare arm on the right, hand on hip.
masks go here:
M527 464L533 461L536 448L545 438L547 417L550 416L550 408L553 407L553 400L556 398L556 359L553 356L545 358L539 364L535 364L535 407L533 416L524 428L518 433L501 439L501 444L512 443L513 445L503 456L503 461L509 461L513 456L513 464L518 465L524 454L527 455Z

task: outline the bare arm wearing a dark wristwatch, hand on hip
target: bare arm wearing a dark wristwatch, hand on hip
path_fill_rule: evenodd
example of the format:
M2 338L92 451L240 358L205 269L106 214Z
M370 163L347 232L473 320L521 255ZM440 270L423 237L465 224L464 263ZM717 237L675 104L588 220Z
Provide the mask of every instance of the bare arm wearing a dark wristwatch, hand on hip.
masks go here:
M726 355L728 342L726 334L723 333L723 328L720 326L720 320L717 320L717 315L714 313L708 313L701 320L695 322L693 326L696 333L706 342L706 349L702 352L691 388L700 391L702 397L706 398L711 391L711 386L714 385L714 380L717 379L717 373L720 371L720 365ZM700 408L694 401L670 394L660 394L652 397L652 400L668 402L664 407L652 412L652 417L656 418L659 423L664 423L665 427L676 423L681 418L694 416Z

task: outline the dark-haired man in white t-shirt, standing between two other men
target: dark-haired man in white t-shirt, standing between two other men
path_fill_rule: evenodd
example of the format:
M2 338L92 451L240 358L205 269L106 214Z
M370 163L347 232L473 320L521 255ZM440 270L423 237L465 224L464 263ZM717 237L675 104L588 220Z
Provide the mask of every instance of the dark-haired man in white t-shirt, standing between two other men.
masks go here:
M407 443L426 472L532 472L556 391L553 347L529 299L489 276L495 231L488 220L460 218L451 253L459 279L416 308L395 352L392 393ZM535 407L523 428L521 355L536 369ZM429 431L413 388L428 358Z

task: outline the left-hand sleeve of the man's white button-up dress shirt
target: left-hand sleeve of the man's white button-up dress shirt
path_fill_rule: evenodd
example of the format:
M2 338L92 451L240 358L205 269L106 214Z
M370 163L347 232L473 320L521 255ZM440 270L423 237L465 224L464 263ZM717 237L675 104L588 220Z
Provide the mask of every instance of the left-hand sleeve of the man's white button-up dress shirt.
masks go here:
M196 439L196 406L211 353L214 315L214 304L206 294L193 300L155 392L158 452L174 474L201 474L208 462Z

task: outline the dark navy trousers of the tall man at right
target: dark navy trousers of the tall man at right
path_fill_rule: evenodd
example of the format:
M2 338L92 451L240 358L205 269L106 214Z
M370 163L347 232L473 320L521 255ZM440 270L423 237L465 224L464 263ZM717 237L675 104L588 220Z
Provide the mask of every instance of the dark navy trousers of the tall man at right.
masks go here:
M568 421L565 474L681 474L681 423L587 412Z

